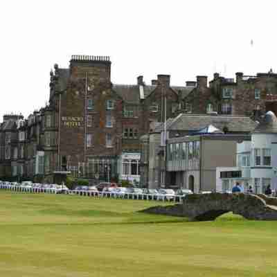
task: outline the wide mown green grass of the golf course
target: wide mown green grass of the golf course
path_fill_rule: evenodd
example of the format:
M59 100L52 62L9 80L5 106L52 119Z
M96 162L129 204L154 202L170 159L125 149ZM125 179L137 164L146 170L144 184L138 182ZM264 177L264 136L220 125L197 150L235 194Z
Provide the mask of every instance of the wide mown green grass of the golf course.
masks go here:
M0 276L277 276L277 222L136 213L157 204L0 191Z

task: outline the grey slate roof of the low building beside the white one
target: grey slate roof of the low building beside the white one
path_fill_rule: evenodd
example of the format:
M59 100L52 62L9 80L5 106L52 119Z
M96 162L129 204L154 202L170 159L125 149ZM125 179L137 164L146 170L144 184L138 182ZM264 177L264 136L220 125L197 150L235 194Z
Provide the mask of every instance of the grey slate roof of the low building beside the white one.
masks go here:
M167 121L167 129L172 131L196 132L207 125L213 125L223 130L227 127L229 132L253 132L258 123L247 116L209 116L208 114L179 114L173 120ZM161 132L161 127L154 132Z

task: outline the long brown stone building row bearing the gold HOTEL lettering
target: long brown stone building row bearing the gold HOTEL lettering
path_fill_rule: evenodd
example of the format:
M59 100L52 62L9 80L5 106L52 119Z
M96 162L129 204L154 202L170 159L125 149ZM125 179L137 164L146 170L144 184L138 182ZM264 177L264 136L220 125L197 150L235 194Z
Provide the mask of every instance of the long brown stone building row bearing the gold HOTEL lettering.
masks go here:
M91 181L123 175L138 181L139 137L165 114L171 117L191 89L172 87L170 75L158 75L151 85L143 76L134 85L113 84L109 57L73 55L68 69L55 64L51 70L46 107L1 124L0 179L50 183L70 171Z

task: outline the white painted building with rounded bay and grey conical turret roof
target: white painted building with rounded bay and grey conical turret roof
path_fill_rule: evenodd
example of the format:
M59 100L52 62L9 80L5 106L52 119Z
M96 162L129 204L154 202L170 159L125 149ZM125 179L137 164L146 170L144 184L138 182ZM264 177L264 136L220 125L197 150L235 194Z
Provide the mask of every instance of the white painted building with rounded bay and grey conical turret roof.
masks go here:
M251 141L237 143L237 167L217 168L217 191L231 190L236 182L254 193L277 189L277 118L268 111L251 134Z

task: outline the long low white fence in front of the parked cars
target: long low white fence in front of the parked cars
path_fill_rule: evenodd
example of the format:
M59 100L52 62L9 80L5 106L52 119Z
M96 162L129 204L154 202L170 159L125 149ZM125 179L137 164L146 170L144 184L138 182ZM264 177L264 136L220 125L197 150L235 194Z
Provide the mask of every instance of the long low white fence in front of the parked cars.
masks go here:
M0 184L0 189L11 190L19 193L51 193L66 195L79 195L87 197L105 197L111 199L133 199L133 200L154 200L183 202L184 195L160 195L160 194L137 194L137 193L117 193L117 192L96 192L89 190L64 190L62 188L32 188L30 186L15 186L11 184Z

